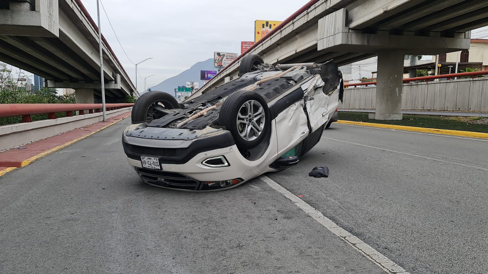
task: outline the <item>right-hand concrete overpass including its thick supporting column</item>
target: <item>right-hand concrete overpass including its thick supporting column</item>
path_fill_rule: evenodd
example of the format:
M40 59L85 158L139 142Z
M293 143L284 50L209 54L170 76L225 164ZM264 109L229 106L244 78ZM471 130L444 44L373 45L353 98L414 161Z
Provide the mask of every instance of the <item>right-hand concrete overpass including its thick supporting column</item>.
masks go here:
M435 55L469 48L470 30L488 25L477 0L312 0L244 54L267 63L339 65L378 55L376 119L401 119L405 54ZM198 93L238 76L239 58Z

